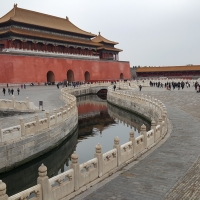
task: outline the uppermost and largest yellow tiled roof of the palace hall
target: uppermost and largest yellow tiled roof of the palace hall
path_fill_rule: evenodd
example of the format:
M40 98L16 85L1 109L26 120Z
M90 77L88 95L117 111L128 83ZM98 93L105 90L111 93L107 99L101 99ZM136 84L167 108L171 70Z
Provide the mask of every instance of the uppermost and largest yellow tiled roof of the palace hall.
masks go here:
M17 5L14 5L14 8L11 11L0 18L0 23L7 22L9 20L40 27L57 29L61 31L67 31L90 37L96 36L95 34L81 30L80 28L72 24L67 17L66 19L59 18L35 11L18 8Z

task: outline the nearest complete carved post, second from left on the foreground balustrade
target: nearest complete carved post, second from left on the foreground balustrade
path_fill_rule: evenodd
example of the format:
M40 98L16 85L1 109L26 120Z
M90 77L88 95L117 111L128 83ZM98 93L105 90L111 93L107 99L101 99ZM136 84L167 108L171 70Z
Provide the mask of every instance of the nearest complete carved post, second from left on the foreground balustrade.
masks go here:
M52 189L47 176L47 167L43 164L38 168L38 175L37 184L42 187L42 200L53 200Z

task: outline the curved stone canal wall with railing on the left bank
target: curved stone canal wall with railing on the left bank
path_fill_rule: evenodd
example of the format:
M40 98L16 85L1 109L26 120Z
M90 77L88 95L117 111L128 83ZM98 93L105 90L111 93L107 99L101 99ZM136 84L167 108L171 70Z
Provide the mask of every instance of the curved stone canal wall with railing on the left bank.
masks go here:
M27 123L20 118L19 125L0 129L0 172L42 155L74 132L78 125L76 97L63 95L66 105L54 109L53 115L47 111L46 117L39 119L36 114L35 120Z

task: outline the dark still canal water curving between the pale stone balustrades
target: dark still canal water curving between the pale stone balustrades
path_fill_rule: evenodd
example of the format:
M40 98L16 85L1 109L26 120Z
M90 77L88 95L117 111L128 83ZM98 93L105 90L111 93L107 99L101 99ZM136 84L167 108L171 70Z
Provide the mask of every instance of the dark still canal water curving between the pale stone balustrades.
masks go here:
M53 177L69 169L70 156L76 151L79 163L94 158L96 144L101 144L102 152L112 149L114 138L120 138L120 144L129 140L129 132L135 137L142 124L150 129L148 121L133 113L118 109L107 103L105 96L88 95L77 98L79 128L57 148L14 170L0 174L0 180L7 185L9 196L37 184L38 167L44 163L48 176Z

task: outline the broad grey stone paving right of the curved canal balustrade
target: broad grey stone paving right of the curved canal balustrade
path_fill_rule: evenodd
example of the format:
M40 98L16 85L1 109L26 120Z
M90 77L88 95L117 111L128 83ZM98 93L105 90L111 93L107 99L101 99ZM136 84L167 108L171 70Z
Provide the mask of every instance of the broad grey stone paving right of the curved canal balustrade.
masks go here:
M200 199L200 94L143 88L166 104L173 129L168 140L102 187L75 199Z

